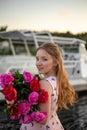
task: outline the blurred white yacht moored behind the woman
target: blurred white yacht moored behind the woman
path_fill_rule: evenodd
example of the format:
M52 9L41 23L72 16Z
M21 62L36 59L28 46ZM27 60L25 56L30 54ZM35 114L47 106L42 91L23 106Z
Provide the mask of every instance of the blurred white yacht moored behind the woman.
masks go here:
M0 32L0 74L19 70L38 73L35 50L43 42L55 42L62 52L70 82L76 91L87 90L87 50L85 41L52 36L49 32Z

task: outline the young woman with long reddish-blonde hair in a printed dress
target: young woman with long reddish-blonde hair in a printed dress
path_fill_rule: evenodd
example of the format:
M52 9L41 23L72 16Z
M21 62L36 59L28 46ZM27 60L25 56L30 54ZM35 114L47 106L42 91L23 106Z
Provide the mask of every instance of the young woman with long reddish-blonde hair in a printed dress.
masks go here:
M60 49L55 43L42 44L36 53L36 66L44 77L41 88L48 91L49 99L40 104L41 111L47 112L43 123L22 124L20 130L64 130L57 112L61 108L73 105L76 99L74 88L70 84L64 69Z

